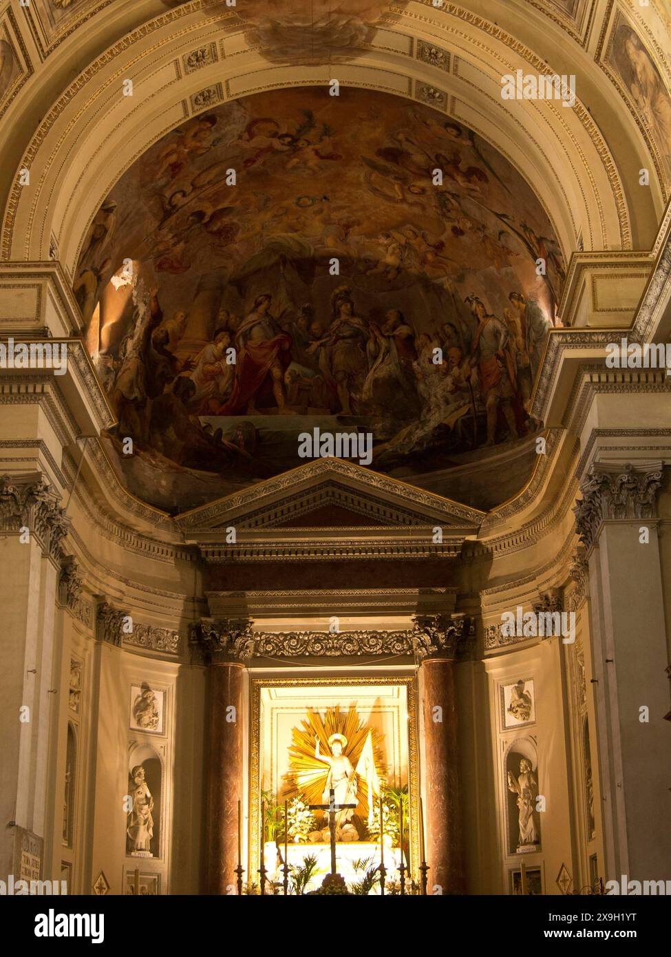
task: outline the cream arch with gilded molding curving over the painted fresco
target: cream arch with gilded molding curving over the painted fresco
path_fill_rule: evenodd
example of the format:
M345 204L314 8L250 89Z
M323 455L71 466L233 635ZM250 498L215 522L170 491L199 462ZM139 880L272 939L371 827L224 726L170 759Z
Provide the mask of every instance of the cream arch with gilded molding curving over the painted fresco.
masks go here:
M556 102L501 99L504 72L540 72L547 69L544 61L503 28L479 17L473 22L467 11L459 16L411 7L385 24L365 53L339 65L339 78L416 99L427 86L441 93L439 108L481 133L526 177L567 256L579 236L586 250L637 245L633 235L641 229L647 235L649 223L635 222L632 229L632 220L640 214L654 222L654 216L644 203L627 201L626 178L580 101L569 110ZM75 40L73 35L68 45ZM419 59L421 42L449 54L449 68ZM185 57L206 43L215 45L216 59L188 73ZM270 64L247 47L230 19L206 15L197 4L155 17L92 61L41 122L22 161L32 170L32 186L15 187L5 212L3 258L47 258L56 240L61 262L72 272L106 193L149 145L207 108L193 102L202 90L218 88L221 100L235 99L284 86L325 86L327 74L326 66ZM134 80L132 105L122 96L123 78ZM607 79L595 69L590 82L597 87ZM654 186L657 208L662 197L660 185Z

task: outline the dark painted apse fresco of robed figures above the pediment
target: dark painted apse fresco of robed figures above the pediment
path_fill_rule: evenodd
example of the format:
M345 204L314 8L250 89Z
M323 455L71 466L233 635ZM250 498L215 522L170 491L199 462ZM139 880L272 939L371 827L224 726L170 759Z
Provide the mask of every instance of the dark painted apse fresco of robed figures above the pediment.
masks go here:
M541 204L478 135L320 87L221 105L147 150L97 213L75 294L119 418L110 454L145 501L184 510L298 466L319 428L371 434L371 468L461 501L499 456L490 504L535 458L563 278Z

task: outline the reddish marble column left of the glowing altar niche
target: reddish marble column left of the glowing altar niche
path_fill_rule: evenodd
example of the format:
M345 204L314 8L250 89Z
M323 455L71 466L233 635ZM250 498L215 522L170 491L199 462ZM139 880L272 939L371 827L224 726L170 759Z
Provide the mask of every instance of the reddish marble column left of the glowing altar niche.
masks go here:
M242 799L242 690L244 665L210 667L210 783L208 893L230 894L237 876L237 801ZM235 707L234 713L230 706Z

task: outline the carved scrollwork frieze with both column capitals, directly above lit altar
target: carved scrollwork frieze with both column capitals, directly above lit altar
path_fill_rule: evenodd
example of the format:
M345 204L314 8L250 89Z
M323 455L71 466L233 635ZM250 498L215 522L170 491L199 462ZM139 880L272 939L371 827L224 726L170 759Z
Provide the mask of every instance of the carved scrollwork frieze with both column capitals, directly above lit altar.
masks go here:
M409 656L461 659L471 654L475 628L450 615L422 615L414 628L398 631L253 632L250 619L203 618L190 635L190 647L205 664L248 661L252 657Z

